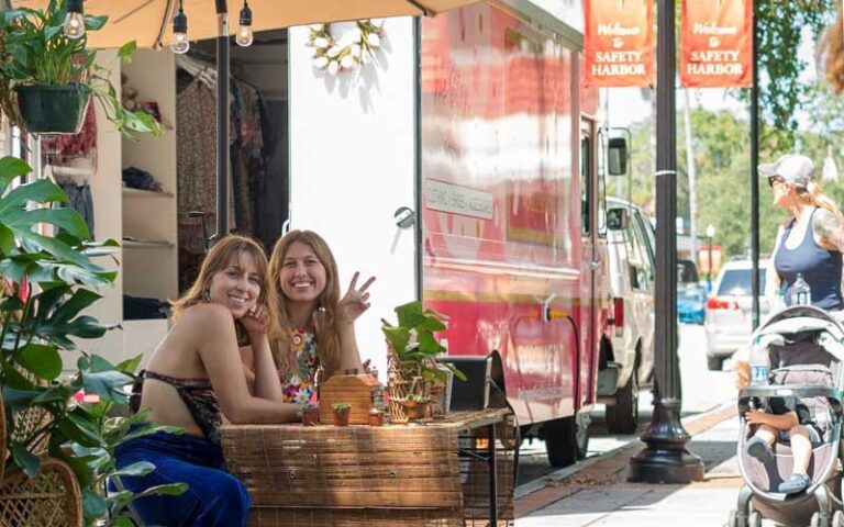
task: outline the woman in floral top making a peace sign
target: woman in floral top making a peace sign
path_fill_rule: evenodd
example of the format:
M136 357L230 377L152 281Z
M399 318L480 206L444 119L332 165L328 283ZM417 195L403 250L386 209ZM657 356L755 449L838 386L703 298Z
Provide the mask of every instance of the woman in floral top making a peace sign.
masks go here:
M369 278L358 287L355 273L341 298L337 265L325 240L311 231L291 231L276 243L269 260L269 309L279 321L270 347L281 379L282 401L315 399L315 379L364 371L355 321L369 309ZM247 379L252 352L243 350Z

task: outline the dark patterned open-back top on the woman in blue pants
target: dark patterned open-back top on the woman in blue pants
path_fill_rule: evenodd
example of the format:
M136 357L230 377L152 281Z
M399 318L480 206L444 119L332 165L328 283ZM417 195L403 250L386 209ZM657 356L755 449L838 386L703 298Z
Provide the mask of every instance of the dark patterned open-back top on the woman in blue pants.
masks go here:
M170 377L142 370L132 385L132 396L130 397L132 413L136 413L141 408L141 389L144 379L155 379L175 388L206 439L214 445L220 445L220 426L223 424L223 417L220 413L220 402L216 400L216 393L214 393L209 379Z

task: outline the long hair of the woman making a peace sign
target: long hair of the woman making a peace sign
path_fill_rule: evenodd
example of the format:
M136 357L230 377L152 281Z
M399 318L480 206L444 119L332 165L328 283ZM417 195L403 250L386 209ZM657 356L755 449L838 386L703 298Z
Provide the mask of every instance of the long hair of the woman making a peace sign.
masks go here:
M293 366L295 357L290 348L290 335L295 329L287 309L287 298L281 291L280 274L285 257L290 246L300 242L309 246L325 268L325 288L319 296L319 305L311 314L311 322L316 336L316 358L326 372L340 363L340 339L336 332L337 304L340 303L340 282L337 264L329 244L313 231L290 231L276 242L269 258L269 311L278 322L277 333L270 339L270 349L276 367L287 373Z

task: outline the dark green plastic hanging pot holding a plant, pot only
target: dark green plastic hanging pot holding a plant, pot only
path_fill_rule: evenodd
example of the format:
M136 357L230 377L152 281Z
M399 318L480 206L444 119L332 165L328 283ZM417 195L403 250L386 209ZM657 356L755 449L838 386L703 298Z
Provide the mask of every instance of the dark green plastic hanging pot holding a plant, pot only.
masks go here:
M91 101L80 83L16 86L18 109L32 134L78 134Z

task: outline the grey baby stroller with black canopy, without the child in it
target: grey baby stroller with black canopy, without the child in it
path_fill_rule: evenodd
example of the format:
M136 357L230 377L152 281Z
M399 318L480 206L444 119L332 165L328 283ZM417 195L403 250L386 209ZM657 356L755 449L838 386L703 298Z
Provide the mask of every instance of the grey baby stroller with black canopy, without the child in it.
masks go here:
M793 305L771 315L753 337L768 354L771 385L751 386L738 393L737 460L744 485L728 526L759 527L762 519L768 518L787 526L844 527L840 464L844 328L822 310ZM753 430L744 414L773 396L798 397L822 431L822 441L813 445L809 464L811 483L801 493L778 492L779 484L791 474L788 442L778 440L773 448L774 460L767 463L749 456L745 448Z

